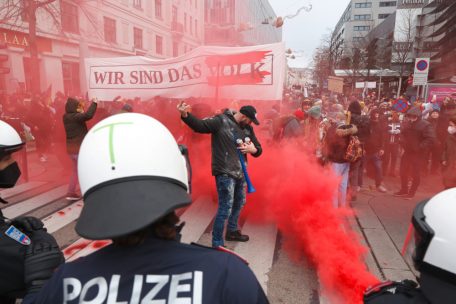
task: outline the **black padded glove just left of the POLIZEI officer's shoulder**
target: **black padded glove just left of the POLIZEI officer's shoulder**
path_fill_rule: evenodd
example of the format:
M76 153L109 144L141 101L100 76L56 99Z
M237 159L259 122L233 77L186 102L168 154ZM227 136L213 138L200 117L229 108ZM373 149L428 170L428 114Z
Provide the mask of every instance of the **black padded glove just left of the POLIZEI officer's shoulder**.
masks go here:
M25 251L24 281L27 293L38 292L65 259L57 241L46 232L41 220L35 217L21 217L14 219L11 224L30 237L31 244Z

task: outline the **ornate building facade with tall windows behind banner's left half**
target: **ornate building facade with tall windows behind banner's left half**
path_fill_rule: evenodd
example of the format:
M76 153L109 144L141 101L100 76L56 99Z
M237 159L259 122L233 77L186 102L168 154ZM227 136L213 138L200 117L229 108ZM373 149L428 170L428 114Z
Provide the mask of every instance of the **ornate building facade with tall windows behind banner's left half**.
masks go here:
M11 9L0 3L0 18ZM56 0L36 16L40 88L52 85L53 92L68 95L86 91L84 58L164 59L204 41L204 0ZM0 91L28 91L34 81L28 18L19 12L18 18L6 20L0 24L0 55L6 56L3 67L9 73L2 74Z

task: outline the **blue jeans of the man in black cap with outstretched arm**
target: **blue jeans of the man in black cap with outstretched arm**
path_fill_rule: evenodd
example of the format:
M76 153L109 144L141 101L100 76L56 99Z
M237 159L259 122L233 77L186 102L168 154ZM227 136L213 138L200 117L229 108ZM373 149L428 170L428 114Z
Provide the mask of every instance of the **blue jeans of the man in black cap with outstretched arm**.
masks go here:
M218 195L218 210L215 215L212 229L212 246L222 246L223 228L228 219L228 231L238 230L238 220L242 207L245 204L245 180L236 179L226 174L215 177Z

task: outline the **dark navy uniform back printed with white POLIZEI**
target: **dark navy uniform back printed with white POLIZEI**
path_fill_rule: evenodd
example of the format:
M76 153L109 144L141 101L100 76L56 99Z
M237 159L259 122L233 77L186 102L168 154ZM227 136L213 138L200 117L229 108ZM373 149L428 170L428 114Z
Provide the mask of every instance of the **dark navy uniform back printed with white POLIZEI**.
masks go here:
M28 303L269 303L238 257L149 237L134 247L110 245L60 266ZM152 302L155 303L155 302Z

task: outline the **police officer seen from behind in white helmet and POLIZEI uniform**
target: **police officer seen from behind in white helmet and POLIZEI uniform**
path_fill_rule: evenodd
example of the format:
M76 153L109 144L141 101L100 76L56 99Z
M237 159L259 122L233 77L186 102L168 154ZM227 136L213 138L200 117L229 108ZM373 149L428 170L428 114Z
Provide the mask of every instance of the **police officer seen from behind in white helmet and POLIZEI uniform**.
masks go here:
M76 231L112 244L60 267L26 303L268 303L238 257L176 240L190 205L186 159L157 120L113 115L86 135Z

